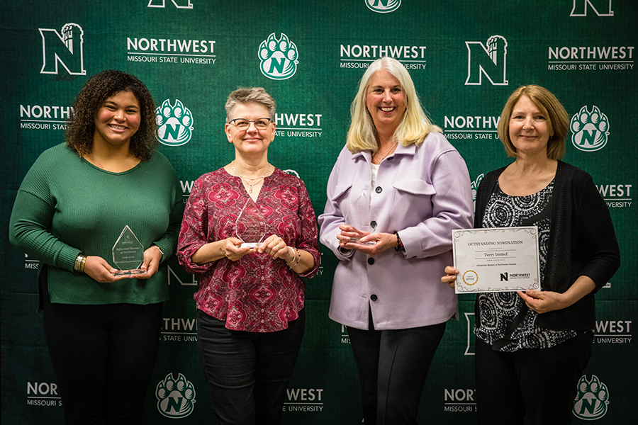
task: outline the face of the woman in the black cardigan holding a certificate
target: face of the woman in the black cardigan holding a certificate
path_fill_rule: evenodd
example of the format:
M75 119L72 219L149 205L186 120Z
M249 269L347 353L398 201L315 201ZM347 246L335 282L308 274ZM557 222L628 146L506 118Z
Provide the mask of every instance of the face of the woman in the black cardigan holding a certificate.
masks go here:
M547 142L554 131L547 111L541 111L530 98L521 96L512 109L508 134L517 154L547 155Z

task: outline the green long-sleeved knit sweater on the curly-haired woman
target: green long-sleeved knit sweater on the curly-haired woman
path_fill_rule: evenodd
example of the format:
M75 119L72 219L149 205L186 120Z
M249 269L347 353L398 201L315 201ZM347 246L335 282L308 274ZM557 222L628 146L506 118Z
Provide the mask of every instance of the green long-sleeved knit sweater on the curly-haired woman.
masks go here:
M73 271L75 259L82 252L115 267L113 244L126 225L144 249L156 244L167 259L177 245L183 209L175 172L159 152L133 169L111 173L61 144L43 152L25 176L9 238L49 266L51 302L145 305L168 299L163 267L149 279L99 283Z

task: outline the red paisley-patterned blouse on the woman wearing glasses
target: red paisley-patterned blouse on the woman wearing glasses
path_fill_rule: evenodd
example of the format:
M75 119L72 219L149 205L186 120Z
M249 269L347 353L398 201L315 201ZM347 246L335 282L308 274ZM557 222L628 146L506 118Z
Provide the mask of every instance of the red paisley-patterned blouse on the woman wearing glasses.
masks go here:
M241 179L223 168L197 179L181 222L177 259L186 271L199 275L194 295L199 310L225 320L228 329L280 331L298 317L305 300L303 280L284 260L254 253L200 266L191 261L204 244L237 237L235 222L249 199ZM275 168L264 179L257 206L266 220L266 236L276 234L289 246L308 251L315 266L302 276L315 276L320 261L317 221L303 181Z

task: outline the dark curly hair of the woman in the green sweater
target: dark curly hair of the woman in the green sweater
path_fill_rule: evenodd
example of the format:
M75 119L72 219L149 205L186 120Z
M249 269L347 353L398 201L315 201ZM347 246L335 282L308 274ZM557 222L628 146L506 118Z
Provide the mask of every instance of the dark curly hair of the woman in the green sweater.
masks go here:
M91 153L95 118L104 102L121 91L130 91L140 103L142 122L130 138L130 153L141 161L149 159L157 147L157 122L155 102L144 83L131 74L118 70L103 71L86 81L75 98L71 123L65 132L67 146L79 157Z

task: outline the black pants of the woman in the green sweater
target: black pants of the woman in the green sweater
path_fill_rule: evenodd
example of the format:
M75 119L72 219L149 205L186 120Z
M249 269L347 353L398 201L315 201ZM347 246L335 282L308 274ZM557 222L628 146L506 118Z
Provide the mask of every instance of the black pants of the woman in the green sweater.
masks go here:
M142 424L162 304L52 304L40 276L44 329L65 424Z

